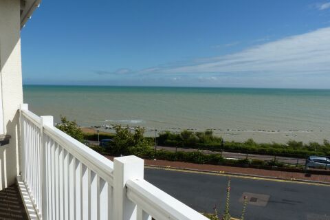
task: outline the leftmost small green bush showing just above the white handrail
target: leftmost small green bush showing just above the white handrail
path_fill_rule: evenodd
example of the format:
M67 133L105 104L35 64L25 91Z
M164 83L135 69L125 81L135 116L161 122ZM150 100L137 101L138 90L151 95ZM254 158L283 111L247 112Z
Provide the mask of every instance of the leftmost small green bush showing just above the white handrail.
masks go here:
M78 140L79 142L84 141L84 134L83 131L78 127L76 121L69 121L67 118L61 115L61 124L57 124L56 128L60 129L67 135L74 137L74 139Z

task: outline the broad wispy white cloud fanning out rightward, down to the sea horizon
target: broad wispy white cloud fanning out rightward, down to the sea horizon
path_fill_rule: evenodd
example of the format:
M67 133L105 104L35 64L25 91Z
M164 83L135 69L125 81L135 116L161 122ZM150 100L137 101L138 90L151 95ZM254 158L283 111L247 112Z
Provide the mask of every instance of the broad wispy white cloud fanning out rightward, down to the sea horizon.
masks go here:
M330 27L184 64L97 74L159 85L330 88Z

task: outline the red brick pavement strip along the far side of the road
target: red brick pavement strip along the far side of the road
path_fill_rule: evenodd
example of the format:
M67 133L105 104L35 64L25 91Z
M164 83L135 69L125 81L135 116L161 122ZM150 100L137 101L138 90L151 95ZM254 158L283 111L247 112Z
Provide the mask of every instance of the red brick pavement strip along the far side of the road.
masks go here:
M113 160L113 157L105 156L108 159ZM153 160L144 159L145 165L153 166L169 166L171 168L189 168L204 171L215 171L215 172L225 172L225 173L236 173L240 175L257 175L264 177L275 177L281 179L302 179L309 181L322 181L330 184L330 175L315 175L311 174L310 177L305 176L305 173L278 171L278 170L263 170L257 168L242 168L234 166L219 166L210 164L192 164L186 162L172 162L167 160Z

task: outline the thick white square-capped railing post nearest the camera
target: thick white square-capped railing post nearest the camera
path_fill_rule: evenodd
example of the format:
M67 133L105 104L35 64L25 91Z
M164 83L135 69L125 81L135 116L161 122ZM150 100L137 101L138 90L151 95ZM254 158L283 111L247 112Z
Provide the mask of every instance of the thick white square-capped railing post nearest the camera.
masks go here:
M137 219L137 206L126 197L126 181L143 179L144 160L135 156L116 157L113 160L113 219Z

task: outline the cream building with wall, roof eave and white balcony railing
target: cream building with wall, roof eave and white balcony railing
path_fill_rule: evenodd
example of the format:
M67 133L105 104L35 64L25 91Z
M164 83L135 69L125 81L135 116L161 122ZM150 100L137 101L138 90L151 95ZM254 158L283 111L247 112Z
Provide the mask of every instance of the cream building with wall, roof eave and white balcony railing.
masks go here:
M0 190L18 183L29 219L207 219L145 181L143 159L111 162L23 104L20 31L39 3L0 0Z

